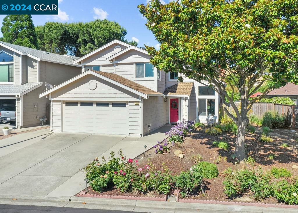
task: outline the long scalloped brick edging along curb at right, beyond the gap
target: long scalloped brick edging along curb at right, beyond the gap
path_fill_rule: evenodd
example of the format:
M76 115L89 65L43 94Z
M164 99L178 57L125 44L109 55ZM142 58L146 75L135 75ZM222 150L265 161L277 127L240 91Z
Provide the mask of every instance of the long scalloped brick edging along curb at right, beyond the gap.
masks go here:
M177 196L176 202L179 202L179 203L205 203L205 204L222 204L222 205L237 205L237 206L260 206L260 207L298 209L298 205L270 204L270 203L244 203L244 202L242 203L242 202L232 202L232 201L183 199L183 198L179 198L179 190L175 190L173 194Z

